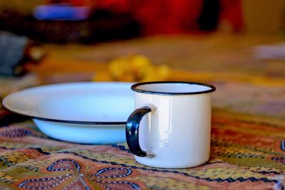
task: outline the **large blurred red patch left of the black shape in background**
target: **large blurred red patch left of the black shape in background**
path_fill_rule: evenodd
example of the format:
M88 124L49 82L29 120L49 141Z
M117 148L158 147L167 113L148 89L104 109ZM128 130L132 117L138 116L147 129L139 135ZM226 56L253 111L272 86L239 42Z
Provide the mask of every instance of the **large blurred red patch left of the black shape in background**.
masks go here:
M140 23L142 33L184 33L197 29L202 0L99 0L95 9L128 13Z

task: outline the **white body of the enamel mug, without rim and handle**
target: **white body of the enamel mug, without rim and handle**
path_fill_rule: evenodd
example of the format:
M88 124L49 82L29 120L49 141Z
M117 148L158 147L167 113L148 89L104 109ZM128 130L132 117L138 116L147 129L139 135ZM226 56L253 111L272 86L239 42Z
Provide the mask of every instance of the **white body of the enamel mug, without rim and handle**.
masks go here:
M140 122L139 142L154 157L138 157L140 164L161 168L187 168L209 159L211 93L157 95L135 93L135 107L152 112Z

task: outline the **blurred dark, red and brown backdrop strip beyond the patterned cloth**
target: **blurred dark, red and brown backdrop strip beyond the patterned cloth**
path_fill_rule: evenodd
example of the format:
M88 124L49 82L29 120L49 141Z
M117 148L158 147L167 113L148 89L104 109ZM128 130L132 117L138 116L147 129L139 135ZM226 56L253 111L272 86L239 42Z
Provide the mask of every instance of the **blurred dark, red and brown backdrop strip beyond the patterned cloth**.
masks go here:
M1 30L53 43L234 31L284 32L284 1L0 1Z

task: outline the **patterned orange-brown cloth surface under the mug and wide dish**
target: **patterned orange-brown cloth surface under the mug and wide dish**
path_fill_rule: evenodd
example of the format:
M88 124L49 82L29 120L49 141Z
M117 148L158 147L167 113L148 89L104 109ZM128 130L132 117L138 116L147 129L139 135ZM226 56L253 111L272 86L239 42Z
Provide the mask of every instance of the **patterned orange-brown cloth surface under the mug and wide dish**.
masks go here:
M169 80L212 83L211 156L190 169L138 164L126 144L50 139L0 110L0 189L284 189L285 61L260 60L272 36L212 33L83 45L45 45L47 57L22 78L0 78L0 95L33 85L91 80L109 60L143 54L172 67Z

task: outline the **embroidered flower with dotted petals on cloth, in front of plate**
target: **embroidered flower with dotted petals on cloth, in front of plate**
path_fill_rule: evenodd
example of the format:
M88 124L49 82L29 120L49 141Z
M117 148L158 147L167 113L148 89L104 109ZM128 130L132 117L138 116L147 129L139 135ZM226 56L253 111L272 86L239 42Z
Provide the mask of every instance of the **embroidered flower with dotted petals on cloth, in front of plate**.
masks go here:
M95 169L95 173L81 171L81 165L73 159L59 159L46 168L47 171L71 171L62 176L49 176L45 178L27 179L18 184L23 189L84 189L91 190L90 181L95 182L103 189L141 189L139 184L132 181L118 180L133 174L130 168L105 167Z

